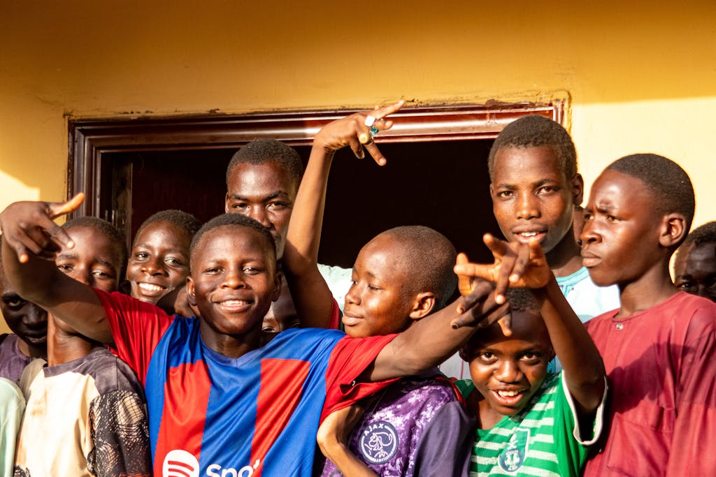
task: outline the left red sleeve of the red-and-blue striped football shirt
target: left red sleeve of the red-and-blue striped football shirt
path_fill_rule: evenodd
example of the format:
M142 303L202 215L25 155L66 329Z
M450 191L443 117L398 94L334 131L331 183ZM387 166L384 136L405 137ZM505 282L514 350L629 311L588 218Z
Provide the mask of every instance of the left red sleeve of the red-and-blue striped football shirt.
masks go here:
M130 365L143 385L152 353L174 317L161 308L119 292L110 294L95 289L95 293L112 330L113 351Z

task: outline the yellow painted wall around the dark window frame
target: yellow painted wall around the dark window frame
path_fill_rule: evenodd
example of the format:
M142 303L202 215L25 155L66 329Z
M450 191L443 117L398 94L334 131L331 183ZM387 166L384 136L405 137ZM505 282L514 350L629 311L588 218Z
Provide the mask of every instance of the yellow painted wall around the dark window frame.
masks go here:
M589 184L681 163L715 216L716 2L0 2L0 207L66 194L67 116L529 100L566 90Z

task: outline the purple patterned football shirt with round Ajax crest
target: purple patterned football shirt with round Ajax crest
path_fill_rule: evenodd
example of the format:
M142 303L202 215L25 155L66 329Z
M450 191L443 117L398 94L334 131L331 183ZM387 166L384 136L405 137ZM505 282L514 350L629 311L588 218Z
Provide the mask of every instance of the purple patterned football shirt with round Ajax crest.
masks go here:
M445 378L403 378L363 402L349 449L379 476L464 476L470 419ZM326 460L321 476L341 476Z

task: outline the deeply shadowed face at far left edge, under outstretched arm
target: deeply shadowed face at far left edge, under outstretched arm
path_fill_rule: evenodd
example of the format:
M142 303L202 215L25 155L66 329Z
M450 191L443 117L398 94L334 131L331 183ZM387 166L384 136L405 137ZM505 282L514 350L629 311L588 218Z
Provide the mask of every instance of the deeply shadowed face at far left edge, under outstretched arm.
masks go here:
M47 311L23 300L5 277L0 262L0 311L10 330L28 345L47 347Z

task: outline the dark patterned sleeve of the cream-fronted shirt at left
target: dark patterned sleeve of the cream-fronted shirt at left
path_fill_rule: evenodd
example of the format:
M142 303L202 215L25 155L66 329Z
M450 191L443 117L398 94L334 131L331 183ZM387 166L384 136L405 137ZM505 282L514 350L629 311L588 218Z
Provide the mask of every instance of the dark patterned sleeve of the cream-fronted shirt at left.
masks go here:
M87 469L97 477L151 476L149 423L137 393L115 390L89 405L92 451Z

